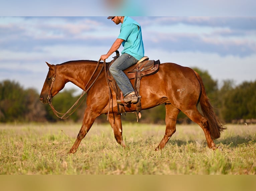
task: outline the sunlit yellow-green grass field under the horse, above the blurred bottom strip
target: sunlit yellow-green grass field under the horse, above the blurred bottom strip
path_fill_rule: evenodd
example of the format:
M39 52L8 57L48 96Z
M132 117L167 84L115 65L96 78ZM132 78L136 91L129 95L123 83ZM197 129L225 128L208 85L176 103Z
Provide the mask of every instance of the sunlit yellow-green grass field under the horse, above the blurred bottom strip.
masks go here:
M0 174L256 174L256 125L231 125L207 147L197 125L177 125L163 150L154 151L165 125L125 123L128 148L109 124L95 123L76 154L67 154L81 123L0 124Z

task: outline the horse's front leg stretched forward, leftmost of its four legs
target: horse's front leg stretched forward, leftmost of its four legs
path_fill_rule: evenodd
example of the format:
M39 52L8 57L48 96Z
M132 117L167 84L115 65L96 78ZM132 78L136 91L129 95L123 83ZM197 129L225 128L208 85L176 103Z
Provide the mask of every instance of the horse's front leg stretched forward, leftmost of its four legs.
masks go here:
M75 153L77 151L80 142L85 137L85 135L88 133L88 131L92 127L96 117L98 117L99 115L100 115L99 113L93 112L90 108L88 108L88 107L86 108L82 127L81 127L81 129L77 135L77 139L76 139L74 145L72 146L72 148L70 149L69 153Z

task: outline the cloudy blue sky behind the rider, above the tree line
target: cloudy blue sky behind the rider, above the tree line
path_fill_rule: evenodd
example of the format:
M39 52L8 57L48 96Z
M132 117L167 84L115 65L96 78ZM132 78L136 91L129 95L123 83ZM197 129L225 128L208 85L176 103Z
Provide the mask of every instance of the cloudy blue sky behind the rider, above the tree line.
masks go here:
M109 0L108 3L114 1ZM120 25L107 19L109 15L106 16L105 12L110 9L97 16L92 11L99 4L106 6L107 0L93 1L90 6L94 9L88 12L86 10L89 8L83 6L87 1L73 1L80 7L75 12L73 5L69 5L70 1L65 0L62 3L69 7L62 5L61 9L57 9L56 3L48 6L48 0L38 1L41 3L36 5L36 0L25 1L27 3L22 1L23 4L20 2L9 0L0 7L0 81L15 81L25 89L36 89L38 93L48 72L45 62L61 64L70 60L98 61L102 54L108 52L120 32ZM184 0L179 2L184 3ZM208 71L219 86L223 80L233 80L235 85L244 81L254 82L256 15L252 9L255 6L248 5L255 3L245 0L241 9L237 9L235 13L234 7L240 5L238 1L233 1L232 4L230 0L224 3L222 1L222 7L229 7L229 11L221 11L216 6L221 1L216 0L215 4L209 1L210 11L207 15L207 9L202 10L202 2L205 1L195 2L197 9L201 10L200 14L196 9L193 9L194 12L190 10L187 15L176 9L172 15L153 11L149 14L142 12L137 16L136 9L132 12L128 10L130 15L134 15L131 17L141 25L145 56L151 60L159 59L161 63L172 62ZM14 7L11 3L17 4ZM180 7L181 3L172 3L170 10L174 10L175 6ZM22 6L35 8L26 11ZM210 9L211 6L215 9ZM82 14L81 7L86 7L86 13ZM156 10L166 10L160 4L153 7ZM53 12L53 9L56 11ZM70 12L63 14L60 10ZM122 47L119 51L122 51ZM114 56L113 54L107 62ZM68 83L65 89L69 88L75 86Z

